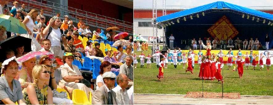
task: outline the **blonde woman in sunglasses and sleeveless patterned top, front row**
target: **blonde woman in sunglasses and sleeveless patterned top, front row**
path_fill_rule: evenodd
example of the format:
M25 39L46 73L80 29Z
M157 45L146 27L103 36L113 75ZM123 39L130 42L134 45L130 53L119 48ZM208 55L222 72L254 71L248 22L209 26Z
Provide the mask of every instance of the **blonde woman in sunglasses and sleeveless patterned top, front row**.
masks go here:
M35 65L32 71L34 82L23 90L23 98L27 104L53 104L52 91L47 85L50 74L46 65Z

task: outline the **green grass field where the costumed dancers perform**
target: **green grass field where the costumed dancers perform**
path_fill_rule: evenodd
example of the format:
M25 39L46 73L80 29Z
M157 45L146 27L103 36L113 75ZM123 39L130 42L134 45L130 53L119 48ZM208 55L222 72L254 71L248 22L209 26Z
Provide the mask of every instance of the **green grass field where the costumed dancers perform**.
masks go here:
M140 55L141 52L134 53ZM151 53L151 50L144 52L145 55L148 53ZM182 64L177 65L177 68L174 68L173 64L168 65L168 68L164 69L164 78L159 82L156 77L159 72L155 63L151 64L151 68L147 68L146 63L144 68L140 68L139 59L138 62L137 68L134 68L134 93L186 94L188 91L202 91L198 64L195 64L194 74L185 73L186 69L182 68ZM252 70L252 67L246 70L244 66L244 74L240 79L238 72L227 70L228 67L225 65L222 69L225 81L224 92L239 92L241 95L273 95L273 66L269 71L266 70L265 65L264 67L260 71L259 67L256 67L256 70ZM221 82L205 80L204 91L222 92Z

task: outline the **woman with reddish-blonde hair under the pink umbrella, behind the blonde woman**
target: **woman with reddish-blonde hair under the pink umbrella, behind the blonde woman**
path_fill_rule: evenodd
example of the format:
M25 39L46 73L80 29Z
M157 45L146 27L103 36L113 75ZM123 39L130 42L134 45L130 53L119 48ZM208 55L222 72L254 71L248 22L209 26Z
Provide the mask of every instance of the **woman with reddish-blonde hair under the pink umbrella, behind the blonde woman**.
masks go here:
M27 61L24 61L22 63L23 67L18 72L18 74L15 78L16 80L19 80L22 88L26 88L28 86L28 84L33 82L32 69L35 66L35 61L36 61L36 58L33 57L33 58L31 58Z

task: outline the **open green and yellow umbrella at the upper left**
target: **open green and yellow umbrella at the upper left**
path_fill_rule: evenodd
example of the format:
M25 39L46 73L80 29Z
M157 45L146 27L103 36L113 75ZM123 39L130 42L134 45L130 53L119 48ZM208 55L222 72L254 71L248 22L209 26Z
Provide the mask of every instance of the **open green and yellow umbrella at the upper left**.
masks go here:
M6 27L6 31L19 33L19 34L26 34L27 29L25 25L20 22L18 19L9 16L9 15L0 15L0 25Z

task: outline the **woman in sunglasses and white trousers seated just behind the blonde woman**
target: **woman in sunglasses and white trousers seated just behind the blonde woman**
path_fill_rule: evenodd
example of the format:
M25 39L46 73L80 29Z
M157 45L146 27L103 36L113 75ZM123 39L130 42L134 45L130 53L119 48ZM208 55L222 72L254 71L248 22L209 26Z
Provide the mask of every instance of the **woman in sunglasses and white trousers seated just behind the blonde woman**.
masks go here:
M37 59L36 59L37 60ZM55 68L52 67L52 61L47 55L40 56L38 58L39 64L43 64L47 66L47 71L50 71L50 79L46 82L46 84L51 87L51 89L57 89L57 83L55 80ZM55 105L72 105L73 101L71 99L53 97L53 104Z

